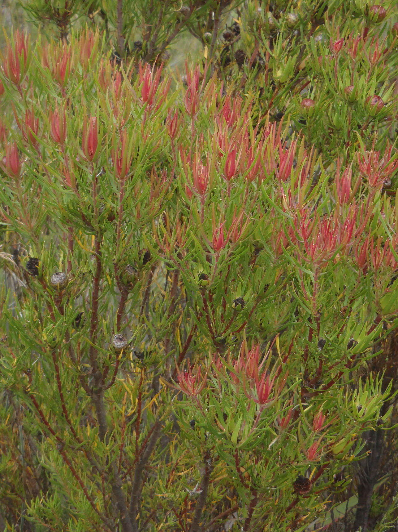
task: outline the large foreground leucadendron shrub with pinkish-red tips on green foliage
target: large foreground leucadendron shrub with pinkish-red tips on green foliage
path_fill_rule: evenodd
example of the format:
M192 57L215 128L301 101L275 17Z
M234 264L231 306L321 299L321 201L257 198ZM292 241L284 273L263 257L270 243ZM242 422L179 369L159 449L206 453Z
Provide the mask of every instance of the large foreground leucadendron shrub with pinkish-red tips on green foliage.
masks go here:
M319 529L394 424L393 142L325 155L330 110L298 131L214 64L6 46L4 530Z

